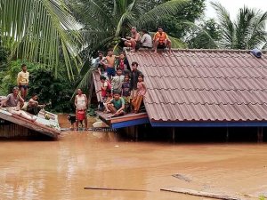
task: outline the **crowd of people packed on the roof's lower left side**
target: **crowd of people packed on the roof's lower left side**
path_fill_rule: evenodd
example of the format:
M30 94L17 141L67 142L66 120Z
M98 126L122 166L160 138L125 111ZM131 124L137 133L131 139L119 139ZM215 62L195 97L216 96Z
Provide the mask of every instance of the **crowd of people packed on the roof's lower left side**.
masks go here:
M96 92L101 92L101 111L110 113L109 117L140 111L147 89L142 72L137 69L137 62L132 63L131 69L125 58L125 52L116 56L109 50L106 57L103 52L99 52L94 68L100 74L101 89Z

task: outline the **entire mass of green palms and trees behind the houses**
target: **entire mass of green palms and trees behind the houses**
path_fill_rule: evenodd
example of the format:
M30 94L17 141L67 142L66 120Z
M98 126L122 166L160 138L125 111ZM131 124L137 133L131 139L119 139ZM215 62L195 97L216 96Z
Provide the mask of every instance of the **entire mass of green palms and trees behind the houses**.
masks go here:
M174 48L266 48L267 12L244 7L231 20L221 4L213 6L218 20L205 19L205 0L0 0L0 95L25 62L29 95L68 112L75 89L90 84L95 53L120 51L132 26L163 27Z

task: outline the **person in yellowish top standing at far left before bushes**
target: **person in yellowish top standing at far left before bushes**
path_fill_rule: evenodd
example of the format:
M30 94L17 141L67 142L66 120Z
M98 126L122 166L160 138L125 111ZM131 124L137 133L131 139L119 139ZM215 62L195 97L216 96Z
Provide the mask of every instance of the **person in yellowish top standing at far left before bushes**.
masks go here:
M20 88L20 94L23 100L25 100L28 93L28 77L29 73L27 71L27 66L26 64L22 64L21 71L19 72L17 77L17 84Z

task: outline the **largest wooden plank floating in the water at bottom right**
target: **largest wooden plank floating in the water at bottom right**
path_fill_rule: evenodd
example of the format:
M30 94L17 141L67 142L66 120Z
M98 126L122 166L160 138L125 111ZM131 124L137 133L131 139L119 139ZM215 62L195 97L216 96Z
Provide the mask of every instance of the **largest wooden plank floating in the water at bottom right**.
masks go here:
M176 192L176 193L181 193L181 194L191 195L191 196L204 196L204 197L223 199L223 200L241 200L238 197L219 195L219 194L202 192L202 191L186 189L186 188L161 188L160 190L167 191L167 192Z

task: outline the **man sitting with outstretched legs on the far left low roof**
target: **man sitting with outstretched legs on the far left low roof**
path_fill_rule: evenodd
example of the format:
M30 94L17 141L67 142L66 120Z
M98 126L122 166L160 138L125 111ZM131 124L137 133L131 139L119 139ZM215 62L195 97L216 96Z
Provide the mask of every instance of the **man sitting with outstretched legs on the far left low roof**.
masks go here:
M1 104L0 108L2 108L5 105L6 110L12 113L13 115L22 116L23 118L35 122L36 118L33 118L23 110L20 110L20 104L23 105L24 100L19 96L19 92L20 92L19 88L14 87L12 93L7 95L6 99Z

